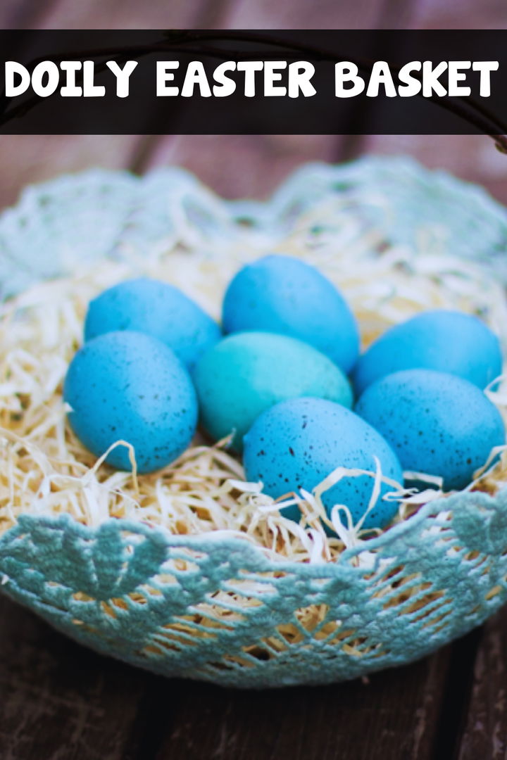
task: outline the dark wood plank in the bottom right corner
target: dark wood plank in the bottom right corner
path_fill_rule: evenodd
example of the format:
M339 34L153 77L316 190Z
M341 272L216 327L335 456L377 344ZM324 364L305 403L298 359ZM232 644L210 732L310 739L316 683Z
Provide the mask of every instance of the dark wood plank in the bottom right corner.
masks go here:
M486 623L474 669L474 688L459 760L507 755L507 609Z

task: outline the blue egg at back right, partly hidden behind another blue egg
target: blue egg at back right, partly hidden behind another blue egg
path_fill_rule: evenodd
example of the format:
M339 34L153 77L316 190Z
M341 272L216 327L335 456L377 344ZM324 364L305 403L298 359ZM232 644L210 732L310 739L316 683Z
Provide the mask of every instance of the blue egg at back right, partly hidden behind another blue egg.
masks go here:
M360 395L372 382L401 369L437 369L486 388L502 374L496 335L480 319L463 312L423 312L386 331L353 369Z

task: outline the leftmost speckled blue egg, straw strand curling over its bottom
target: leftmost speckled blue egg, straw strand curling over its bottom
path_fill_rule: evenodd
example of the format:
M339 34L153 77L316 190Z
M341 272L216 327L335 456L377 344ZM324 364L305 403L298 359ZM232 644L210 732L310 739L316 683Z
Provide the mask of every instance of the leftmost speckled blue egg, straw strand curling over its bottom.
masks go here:
M84 344L68 368L64 398L71 428L93 454L127 441L141 473L176 459L195 432L197 400L189 373L151 335L110 332ZM125 446L114 448L107 461L119 470L132 467Z

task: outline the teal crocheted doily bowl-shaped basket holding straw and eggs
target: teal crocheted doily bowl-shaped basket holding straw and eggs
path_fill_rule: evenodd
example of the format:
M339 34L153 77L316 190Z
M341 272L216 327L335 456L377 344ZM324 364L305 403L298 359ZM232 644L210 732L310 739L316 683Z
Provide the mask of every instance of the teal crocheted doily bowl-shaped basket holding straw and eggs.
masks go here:
M505 277L507 214L485 192L407 159L366 158L305 166L266 204L219 201L179 169L144 179L94 170L28 188L0 218L3 293L76 259L156 244L178 234L182 214L206 239L237 220L273 239L334 193L365 215L378 213L372 193L388 198L391 214L376 223L407 245L416 227L444 220L448 246ZM166 676L240 687L352 679L423 657L505 602L507 489L429 502L332 563L273 562L214 533L22 515L0 540L0 579L82 644Z

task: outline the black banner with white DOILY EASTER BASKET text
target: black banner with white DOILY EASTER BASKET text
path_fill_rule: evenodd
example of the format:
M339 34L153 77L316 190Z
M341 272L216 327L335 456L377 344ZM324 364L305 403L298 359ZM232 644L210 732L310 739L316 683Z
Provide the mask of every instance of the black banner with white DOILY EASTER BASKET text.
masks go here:
M507 132L507 30L2 31L2 134Z

